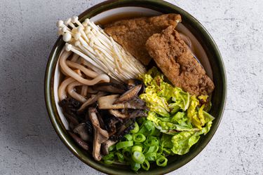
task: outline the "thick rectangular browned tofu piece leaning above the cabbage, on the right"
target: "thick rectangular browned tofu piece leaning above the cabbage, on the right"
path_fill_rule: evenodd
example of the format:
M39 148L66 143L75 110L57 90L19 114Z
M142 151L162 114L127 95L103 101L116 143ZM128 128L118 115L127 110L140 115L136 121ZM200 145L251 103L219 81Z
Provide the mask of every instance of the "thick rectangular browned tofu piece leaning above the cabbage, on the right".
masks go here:
M154 34L146 43L149 55L173 85L196 96L210 94L215 85L173 26Z

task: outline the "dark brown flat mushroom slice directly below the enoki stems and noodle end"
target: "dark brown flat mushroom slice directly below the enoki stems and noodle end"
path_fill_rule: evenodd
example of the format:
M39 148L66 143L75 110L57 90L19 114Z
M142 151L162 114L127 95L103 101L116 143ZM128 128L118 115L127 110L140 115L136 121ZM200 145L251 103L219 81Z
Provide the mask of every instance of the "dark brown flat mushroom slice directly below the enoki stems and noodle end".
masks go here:
M100 83L93 86L94 90L99 90L103 92L112 92L116 94L123 94L126 92L125 85L119 83Z

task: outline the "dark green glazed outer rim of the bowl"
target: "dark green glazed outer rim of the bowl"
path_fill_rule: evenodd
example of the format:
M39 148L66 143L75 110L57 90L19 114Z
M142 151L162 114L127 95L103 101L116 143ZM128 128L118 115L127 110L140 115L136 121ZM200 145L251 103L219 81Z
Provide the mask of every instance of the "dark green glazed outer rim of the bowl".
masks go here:
M192 160L193 158L196 157L196 155L198 155L198 153L200 153L203 148L205 148L205 146L208 144L208 142L210 141L210 139L212 139L213 135L215 134L218 125L220 124L220 121L222 120L222 116L224 113L224 106L226 103L226 98L227 98L227 76L225 73L225 68L224 68L224 63L222 61L222 57L220 54L219 49L217 48L217 45L215 44L215 41L213 40L212 36L210 36L210 34L208 33L208 31L203 27L203 25L201 25L200 22L198 22L198 20L196 20L196 18L194 18L192 15L190 15L189 13L187 13L186 11L182 10L182 8L179 8L175 5L173 5L172 3L168 3L166 1L155 1L155 0L144 0L144 1L140 1L140 0L111 0L111 1L104 1L102 3L98 3L97 5L88 8L88 10L84 11L83 13L81 13L81 15L79 15L79 18L81 19L81 17L83 17L84 15L91 13L92 15L100 13L104 10L109 10L112 8L112 6L114 6L114 8L116 7L121 7L121 6L127 6L130 3L134 3L133 6L142 6L142 4L144 4L144 6L142 7L147 7L147 4L150 5L151 7L154 6L163 6L164 8L171 8L172 10L177 10L177 12L179 12L182 16L186 17L186 19L190 22L194 22L195 27L198 29L198 31L201 32L201 34L203 36L205 36L205 38L209 41L210 47L213 48L213 50L215 51L215 57L217 57L217 62L219 63L219 69L220 69L220 73L222 76L222 103L220 104L220 112L218 113L217 116L219 116L219 120L218 122L215 124L213 124L214 126L214 130L210 131L210 134L207 136L208 138L205 139L204 142L202 142L201 144L201 148L198 148L198 150L196 150L194 153L192 153L191 155L189 155L187 158L185 158L182 162L178 163L177 165L170 165L170 167L162 167L161 169L155 169L154 174L166 174L168 172L172 172L175 169L178 169L180 167L182 167L183 165L187 164L187 162L189 162L190 160ZM146 4L146 5L145 5ZM129 5L130 6L130 5ZM79 158L79 160L81 160L82 162L86 163L86 165L93 167L94 169L97 169L100 172L104 172L107 174L134 174L133 172L123 172L122 170L120 170L119 172L116 172L117 170L112 169L111 167L107 167L104 166L102 164L100 164L100 162L95 162L93 160L89 160L88 158L85 158L86 155L83 155L80 152L80 149L77 148L75 146L74 143L72 143L72 140L70 139L69 135L67 134L67 131L65 130L65 127L60 125L61 120L58 117L58 111L55 108L55 101L54 101L54 97L52 96L52 87L53 87L53 73L55 72L55 55L54 53L57 50L62 49L62 38L59 37L58 40L56 41L55 45L53 46L52 51L50 52L50 56L48 58L48 63L46 66L46 74L45 74L45 85L44 85L44 91L45 91L45 102L46 102L46 109L48 111L48 116L50 118L50 122L52 123L55 132L58 134L58 136L60 137L61 141L65 144L65 146L67 146L67 148L69 148L69 150L77 157ZM152 172L140 172L139 174L151 174Z

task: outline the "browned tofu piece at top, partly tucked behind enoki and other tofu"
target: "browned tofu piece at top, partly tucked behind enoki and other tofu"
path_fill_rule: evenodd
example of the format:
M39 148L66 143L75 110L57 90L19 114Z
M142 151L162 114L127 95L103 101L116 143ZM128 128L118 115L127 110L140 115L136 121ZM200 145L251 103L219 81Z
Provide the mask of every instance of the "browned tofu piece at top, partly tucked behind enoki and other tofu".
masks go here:
M142 64L147 65L151 61L145 48L147 39L170 25L176 27L178 22L181 22L181 16L171 13L151 18L119 20L106 26L104 31Z

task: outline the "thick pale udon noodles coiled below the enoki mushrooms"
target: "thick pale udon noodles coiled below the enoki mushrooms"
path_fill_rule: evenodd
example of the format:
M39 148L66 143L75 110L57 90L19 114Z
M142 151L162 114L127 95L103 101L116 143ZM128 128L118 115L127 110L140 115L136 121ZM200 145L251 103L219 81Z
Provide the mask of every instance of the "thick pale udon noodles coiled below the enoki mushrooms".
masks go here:
M87 66L89 64L85 60L72 52L63 50L59 64L61 72L66 76L58 88L60 101L66 99L67 94L69 94L70 97L82 102L83 105L87 105L85 104L87 95L97 92L88 86L97 83L109 83L110 81L109 76L93 71ZM79 92L77 92L76 87L79 87ZM92 101L92 99L90 100Z

